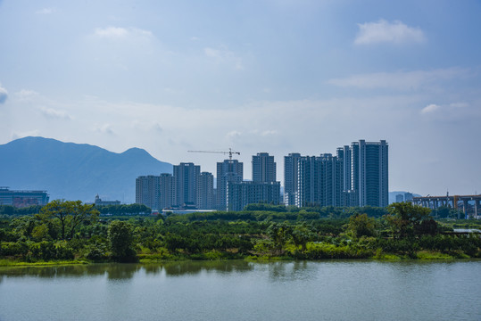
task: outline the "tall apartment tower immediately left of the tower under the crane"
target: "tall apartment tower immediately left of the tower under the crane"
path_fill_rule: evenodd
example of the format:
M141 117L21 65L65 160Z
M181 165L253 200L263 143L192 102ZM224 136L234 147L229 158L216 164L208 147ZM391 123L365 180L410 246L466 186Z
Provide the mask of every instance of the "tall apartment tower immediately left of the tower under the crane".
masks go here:
M174 165L175 205L195 204L197 202L197 179L201 167L194 163L181 162Z

